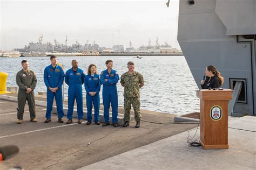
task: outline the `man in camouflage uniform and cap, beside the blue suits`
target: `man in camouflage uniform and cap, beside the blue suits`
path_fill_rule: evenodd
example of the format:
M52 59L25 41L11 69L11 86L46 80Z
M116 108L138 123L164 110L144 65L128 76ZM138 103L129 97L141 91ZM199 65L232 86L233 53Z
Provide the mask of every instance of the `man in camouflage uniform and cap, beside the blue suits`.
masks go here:
M129 61L127 63L128 72L121 76L121 85L124 87L124 120L123 127L130 125L130 110L131 104L134 109L134 115L136 120L135 128L139 128L140 119L140 93L139 88L144 86L143 76L134 70L134 62Z

